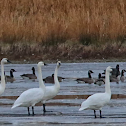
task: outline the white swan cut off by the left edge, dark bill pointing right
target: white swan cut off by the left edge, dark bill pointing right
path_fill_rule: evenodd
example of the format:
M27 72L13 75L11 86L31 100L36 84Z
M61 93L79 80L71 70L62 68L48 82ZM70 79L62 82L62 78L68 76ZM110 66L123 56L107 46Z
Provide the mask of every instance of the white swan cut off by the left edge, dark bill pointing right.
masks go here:
M1 84L0 84L0 95L3 94L5 90L5 74L4 74L4 63L11 63L7 58L1 60Z

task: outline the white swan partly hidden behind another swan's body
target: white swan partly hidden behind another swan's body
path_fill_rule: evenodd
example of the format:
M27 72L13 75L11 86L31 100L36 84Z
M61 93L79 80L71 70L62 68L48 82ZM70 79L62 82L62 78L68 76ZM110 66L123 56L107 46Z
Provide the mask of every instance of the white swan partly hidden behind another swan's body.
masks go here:
M58 73L58 69L61 65L61 62L58 61L57 62L57 66L55 68L55 73L54 73L54 82L55 84L53 86L46 86L46 91L45 91L45 94L44 94L44 97L42 99L42 103L43 103L43 112L45 113L46 112L46 109L45 109L45 102L47 100L50 100L52 98L54 98L58 92L59 92L59 89L60 89L60 84L59 84L59 81L58 81L58 78L57 78L57 73Z

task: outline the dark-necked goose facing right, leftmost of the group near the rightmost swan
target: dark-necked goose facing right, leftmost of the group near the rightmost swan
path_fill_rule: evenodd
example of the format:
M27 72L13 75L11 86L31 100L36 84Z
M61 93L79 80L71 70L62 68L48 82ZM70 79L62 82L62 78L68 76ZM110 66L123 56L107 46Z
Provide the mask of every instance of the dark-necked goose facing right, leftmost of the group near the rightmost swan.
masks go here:
M76 79L76 81L78 83L94 83L94 79L91 77L91 74L94 73L92 70L88 71L88 78L78 78Z

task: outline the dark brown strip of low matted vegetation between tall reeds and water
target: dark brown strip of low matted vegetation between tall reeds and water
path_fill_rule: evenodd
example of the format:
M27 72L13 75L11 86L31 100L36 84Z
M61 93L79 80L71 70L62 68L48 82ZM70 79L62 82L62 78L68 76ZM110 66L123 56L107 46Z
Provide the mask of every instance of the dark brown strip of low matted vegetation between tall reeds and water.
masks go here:
M7 57L15 63L36 63L45 61L55 63L57 60L65 63L78 62L125 62L126 45L63 45L43 46L40 44L1 45L0 58Z

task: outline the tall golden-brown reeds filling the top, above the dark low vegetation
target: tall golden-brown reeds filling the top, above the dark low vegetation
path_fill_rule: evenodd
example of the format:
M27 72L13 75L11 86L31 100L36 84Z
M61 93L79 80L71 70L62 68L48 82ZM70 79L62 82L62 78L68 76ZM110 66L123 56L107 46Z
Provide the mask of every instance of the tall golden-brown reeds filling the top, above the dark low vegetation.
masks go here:
M0 42L125 41L126 0L0 0Z

